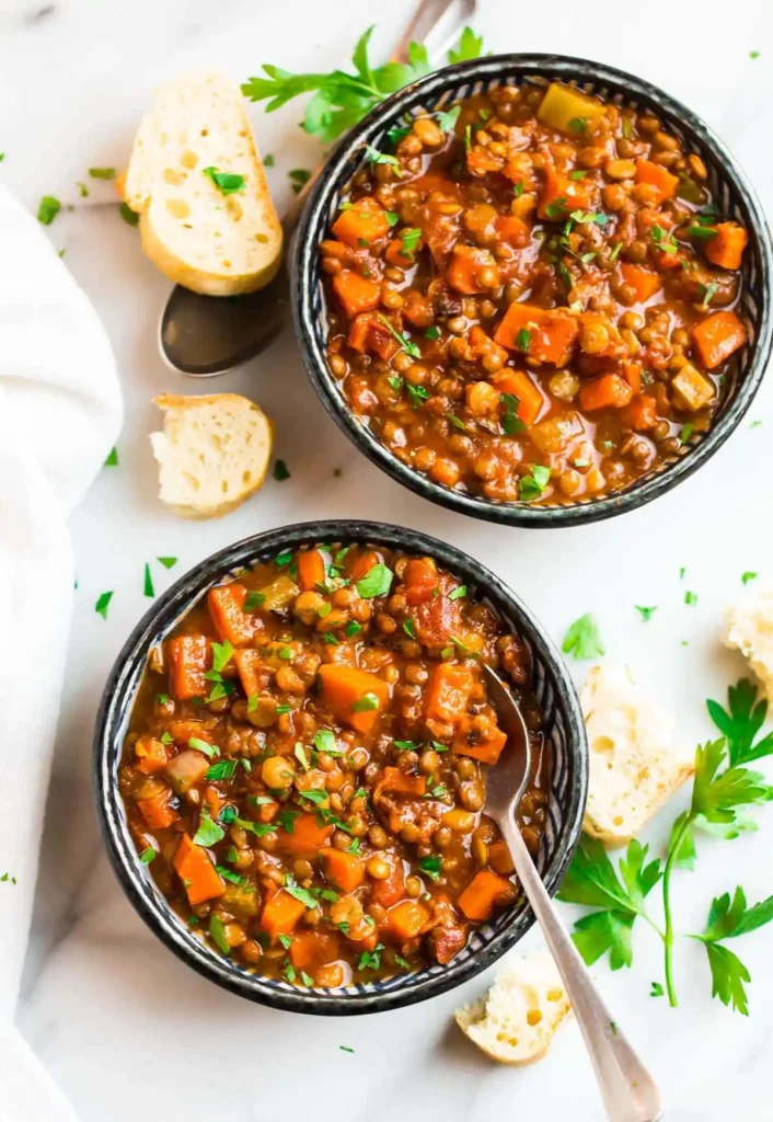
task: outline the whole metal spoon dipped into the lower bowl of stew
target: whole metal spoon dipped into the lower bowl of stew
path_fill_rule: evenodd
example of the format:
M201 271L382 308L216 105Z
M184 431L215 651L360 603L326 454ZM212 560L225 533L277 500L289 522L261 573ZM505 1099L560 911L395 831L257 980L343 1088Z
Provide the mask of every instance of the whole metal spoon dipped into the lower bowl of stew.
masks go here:
M501 830L518 881L563 978L609 1122L656 1122L662 1118L657 1087L593 985L516 825L518 803L531 772L528 733L513 695L499 675L485 664L481 670L499 724L507 734L499 763L488 769L486 813Z

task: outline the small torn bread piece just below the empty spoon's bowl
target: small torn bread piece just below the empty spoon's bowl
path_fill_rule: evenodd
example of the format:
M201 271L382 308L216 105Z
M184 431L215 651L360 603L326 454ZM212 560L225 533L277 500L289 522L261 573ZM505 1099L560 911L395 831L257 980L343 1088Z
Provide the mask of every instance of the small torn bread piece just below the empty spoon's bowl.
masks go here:
M268 470L274 430L240 394L154 397L164 432L150 433L160 498L184 518L219 518L256 491Z

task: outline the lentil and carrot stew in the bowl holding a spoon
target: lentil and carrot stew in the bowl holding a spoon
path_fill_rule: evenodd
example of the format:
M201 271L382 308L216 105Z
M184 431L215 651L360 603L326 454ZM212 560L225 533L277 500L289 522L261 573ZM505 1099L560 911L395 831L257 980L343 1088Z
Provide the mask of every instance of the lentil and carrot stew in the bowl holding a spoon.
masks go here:
M506 738L481 661L531 730L536 853L550 763L526 651L432 558L325 543L212 589L153 651L119 773L181 920L297 985L450 962L517 898L484 813Z

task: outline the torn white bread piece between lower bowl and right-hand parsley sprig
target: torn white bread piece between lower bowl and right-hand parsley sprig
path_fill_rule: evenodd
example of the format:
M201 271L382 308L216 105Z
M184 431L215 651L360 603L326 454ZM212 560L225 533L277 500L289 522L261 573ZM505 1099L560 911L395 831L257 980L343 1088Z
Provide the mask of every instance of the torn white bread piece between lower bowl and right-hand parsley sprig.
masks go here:
M673 721L624 666L593 666L582 691L590 782L582 828L625 845L694 772Z

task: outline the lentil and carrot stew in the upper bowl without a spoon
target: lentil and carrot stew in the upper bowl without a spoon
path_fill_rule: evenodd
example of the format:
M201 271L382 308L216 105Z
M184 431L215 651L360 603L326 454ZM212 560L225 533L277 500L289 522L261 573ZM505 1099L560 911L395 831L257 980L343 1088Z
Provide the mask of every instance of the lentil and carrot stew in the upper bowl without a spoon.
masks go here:
M503 86L368 149L320 247L352 412L444 487L567 504L710 427L746 230L652 113Z

